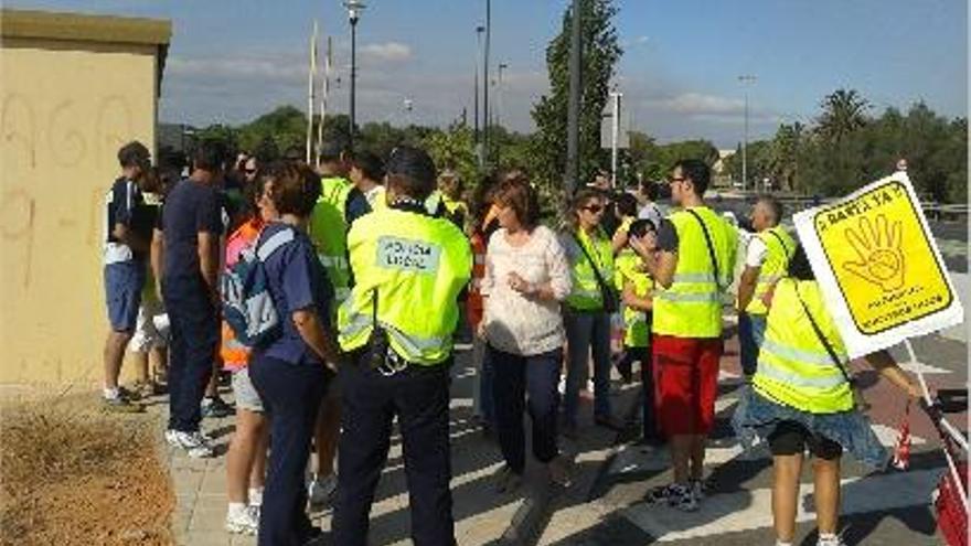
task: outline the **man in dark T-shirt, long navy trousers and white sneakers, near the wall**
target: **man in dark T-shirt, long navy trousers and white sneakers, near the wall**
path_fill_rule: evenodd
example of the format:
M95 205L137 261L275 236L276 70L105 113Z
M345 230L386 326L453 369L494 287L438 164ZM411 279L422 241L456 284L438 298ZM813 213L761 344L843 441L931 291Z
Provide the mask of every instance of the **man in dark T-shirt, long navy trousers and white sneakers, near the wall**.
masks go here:
M201 142L192 173L169 192L162 208L162 297L171 321L169 427L166 440L190 457L212 457L199 430L200 403L220 340L220 236L224 231L216 185L227 156Z

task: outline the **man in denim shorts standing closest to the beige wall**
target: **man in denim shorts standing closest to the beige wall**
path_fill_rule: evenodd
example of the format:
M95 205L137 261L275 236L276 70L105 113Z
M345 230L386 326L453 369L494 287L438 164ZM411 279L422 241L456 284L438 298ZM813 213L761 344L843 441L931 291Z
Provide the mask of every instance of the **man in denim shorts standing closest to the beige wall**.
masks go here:
M141 142L132 141L118 150L121 176L105 199L105 301L111 330L105 342L105 407L117 411L141 411L118 387L125 349L135 333L141 289L146 278L146 257L151 227L138 222L145 208L139 184L150 167L151 154Z

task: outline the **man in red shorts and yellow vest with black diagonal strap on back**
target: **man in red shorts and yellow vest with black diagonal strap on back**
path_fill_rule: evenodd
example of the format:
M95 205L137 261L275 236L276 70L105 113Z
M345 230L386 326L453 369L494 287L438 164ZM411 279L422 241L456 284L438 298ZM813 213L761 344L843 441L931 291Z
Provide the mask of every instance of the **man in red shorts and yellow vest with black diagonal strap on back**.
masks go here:
M715 420L722 302L732 282L735 228L705 206L711 171L701 160L679 161L671 173L671 201L680 208L631 246L654 277L654 385L658 419L671 441L674 482L652 492L695 511L703 496L705 440Z

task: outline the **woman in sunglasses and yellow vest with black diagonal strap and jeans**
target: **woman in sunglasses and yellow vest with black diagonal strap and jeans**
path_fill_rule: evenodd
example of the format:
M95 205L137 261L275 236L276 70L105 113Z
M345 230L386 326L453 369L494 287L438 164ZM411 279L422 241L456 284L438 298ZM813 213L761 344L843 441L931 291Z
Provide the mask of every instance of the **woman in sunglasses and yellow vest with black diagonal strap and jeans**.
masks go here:
M600 227L604 196L596 190L580 190L574 196L567 217L563 247L569 261L573 289L564 306L567 370L564 403L564 435L576 438L580 385L586 382L590 353L594 355L594 420L615 430L622 422L610 410L610 309L616 296L613 248ZM605 299L607 301L605 301ZM612 299L612 302L610 301Z

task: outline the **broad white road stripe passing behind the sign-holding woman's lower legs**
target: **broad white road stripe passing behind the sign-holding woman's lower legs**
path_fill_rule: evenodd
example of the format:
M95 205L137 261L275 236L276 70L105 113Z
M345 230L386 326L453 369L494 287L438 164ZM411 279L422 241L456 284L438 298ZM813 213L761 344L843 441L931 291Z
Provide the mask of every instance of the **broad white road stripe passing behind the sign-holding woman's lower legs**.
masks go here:
M920 470L842 480L841 515L927 505L941 472ZM812 491L812 484L801 484L798 522L815 520ZM661 543L765 528L772 526L772 490L712 495L694 513L638 504L625 508L622 514Z

